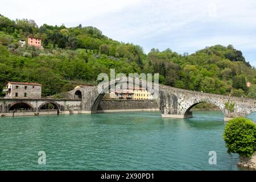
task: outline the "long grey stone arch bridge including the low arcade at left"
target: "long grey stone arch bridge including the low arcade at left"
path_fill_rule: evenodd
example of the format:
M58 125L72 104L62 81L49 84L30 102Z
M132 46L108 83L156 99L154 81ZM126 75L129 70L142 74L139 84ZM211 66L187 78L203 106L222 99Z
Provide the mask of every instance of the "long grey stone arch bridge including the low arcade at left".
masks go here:
M110 88L110 86L109 86ZM109 90L105 88L104 91ZM64 94L65 99L0 99L0 114L10 113L16 104L24 104L29 110L39 112L47 103L54 105L58 113L96 113L104 91L98 93L97 86L77 88ZM240 97L229 97L217 94L201 93L191 90L177 89L170 86L159 85L159 97L156 103L167 118L190 118L193 106L207 102L216 105L223 113L224 120L233 117L246 117L256 111L256 100ZM234 103L234 109L226 108L226 103Z

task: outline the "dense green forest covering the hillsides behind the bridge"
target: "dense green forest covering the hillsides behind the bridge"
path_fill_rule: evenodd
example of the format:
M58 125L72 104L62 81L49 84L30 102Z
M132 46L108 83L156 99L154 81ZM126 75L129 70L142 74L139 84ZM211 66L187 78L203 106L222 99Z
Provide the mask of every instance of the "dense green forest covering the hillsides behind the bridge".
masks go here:
M21 47L27 36L42 38L43 48ZM43 96L96 85L99 73L159 73L161 84L237 97L256 98L256 69L232 45L206 47L189 55L112 40L94 27L38 27L34 20L0 15L0 84L38 82ZM253 84L247 88L246 82ZM1 96L4 96L1 93Z

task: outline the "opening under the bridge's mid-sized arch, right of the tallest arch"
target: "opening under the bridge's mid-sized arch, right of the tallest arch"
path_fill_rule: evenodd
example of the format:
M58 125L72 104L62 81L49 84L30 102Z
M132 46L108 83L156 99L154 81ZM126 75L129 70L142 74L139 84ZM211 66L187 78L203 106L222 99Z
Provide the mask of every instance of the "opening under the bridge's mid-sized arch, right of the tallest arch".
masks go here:
M224 111L217 105L210 102L197 102L185 111L185 118L208 118L213 120L222 120L224 119Z

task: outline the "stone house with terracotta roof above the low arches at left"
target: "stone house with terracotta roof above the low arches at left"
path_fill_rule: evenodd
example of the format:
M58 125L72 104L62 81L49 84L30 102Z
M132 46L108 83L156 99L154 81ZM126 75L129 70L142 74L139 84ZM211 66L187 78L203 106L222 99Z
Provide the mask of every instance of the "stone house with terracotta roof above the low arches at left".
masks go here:
M42 85L29 82L13 82L9 81L6 88L3 89L6 93L5 98L41 98Z

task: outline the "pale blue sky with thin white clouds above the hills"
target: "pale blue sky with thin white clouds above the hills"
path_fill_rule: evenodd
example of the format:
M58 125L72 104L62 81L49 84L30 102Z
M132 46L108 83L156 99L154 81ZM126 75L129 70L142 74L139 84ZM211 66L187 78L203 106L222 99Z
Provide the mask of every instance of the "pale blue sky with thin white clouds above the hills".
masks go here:
M253 0L3 0L1 4L0 13L11 19L34 19L39 26L94 26L109 38L142 46L146 53L151 48L193 53L207 46L232 44L256 66Z

